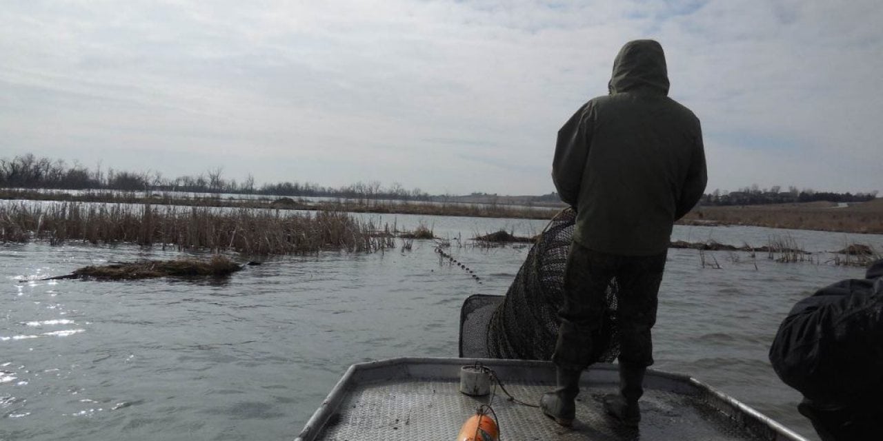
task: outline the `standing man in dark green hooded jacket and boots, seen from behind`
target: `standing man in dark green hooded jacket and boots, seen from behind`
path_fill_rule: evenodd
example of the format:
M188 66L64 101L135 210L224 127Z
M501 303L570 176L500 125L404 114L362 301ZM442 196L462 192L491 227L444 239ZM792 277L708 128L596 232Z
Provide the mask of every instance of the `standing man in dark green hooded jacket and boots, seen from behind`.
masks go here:
M640 421L638 398L646 367L653 364L650 330L672 225L706 188L699 120L668 98L660 44L626 43L608 89L558 131L552 165L555 188L577 210L552 357L558 385L540 402L562 425L573 422L580 374L594 363L591 334L600 328L611 283L620 393L608 397L605 407L628 425Z

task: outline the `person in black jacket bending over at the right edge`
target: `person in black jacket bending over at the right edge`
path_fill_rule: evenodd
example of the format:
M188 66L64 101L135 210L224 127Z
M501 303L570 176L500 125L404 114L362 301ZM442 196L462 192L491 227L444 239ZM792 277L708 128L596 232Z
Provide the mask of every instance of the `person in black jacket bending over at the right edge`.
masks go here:
M769 357L824 441L883 439L883 259L796 303Z

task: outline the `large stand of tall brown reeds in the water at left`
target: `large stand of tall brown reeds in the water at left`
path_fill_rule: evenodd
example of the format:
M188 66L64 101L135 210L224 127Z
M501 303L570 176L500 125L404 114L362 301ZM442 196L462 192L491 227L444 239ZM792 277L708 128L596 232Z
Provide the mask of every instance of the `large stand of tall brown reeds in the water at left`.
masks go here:
M335 211L292 213L247 208L157 207L151 204L0 206L0 240L137 243L177 250L238 251L248 255L320 250L374 251L395 247L374 226Z

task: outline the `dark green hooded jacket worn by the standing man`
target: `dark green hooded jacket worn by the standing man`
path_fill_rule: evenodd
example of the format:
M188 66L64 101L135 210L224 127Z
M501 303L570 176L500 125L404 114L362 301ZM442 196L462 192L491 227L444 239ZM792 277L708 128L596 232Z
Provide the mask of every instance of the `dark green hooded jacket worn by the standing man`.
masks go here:
M668 98L656 41L626 43L608 89L558 131L555 188L577 209L575 242L623 256L660 254L706 188L699 120Z

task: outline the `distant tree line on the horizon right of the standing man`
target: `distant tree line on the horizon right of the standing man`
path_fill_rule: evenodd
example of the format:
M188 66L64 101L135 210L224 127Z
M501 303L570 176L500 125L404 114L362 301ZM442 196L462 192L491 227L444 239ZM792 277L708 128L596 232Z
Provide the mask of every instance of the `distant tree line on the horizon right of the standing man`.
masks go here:
M743 187L738 191L715 190L706 194L699 202L703 206L753 206L763 204L786 204L792 202L814 202L824 200L828 202L866 202L877 198L877 191L868 193L837 193L834 191L814 191L812 189L798 190L791 186L788 191L781 191L781 187L774 185L769 189L761 189L758 184L751 187Z

